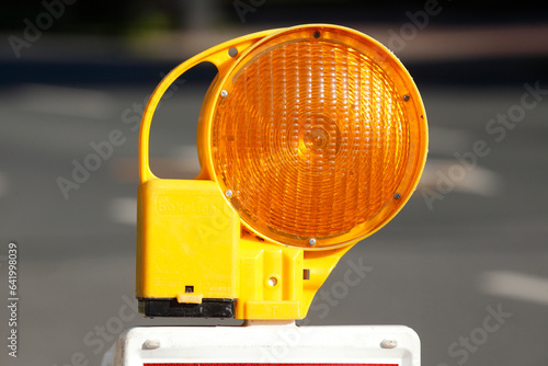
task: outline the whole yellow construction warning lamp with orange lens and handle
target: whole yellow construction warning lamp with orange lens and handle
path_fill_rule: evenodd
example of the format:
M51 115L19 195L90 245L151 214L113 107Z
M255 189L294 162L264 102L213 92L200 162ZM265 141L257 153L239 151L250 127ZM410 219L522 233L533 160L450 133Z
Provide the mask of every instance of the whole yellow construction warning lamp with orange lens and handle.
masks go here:
M218 69L202 105L194 180L148 163L155 110L193 66ZM309 24L254 33L173 69L142 116L137 298L151 317L301 319L357 241L409 199L424 107L370 37Z

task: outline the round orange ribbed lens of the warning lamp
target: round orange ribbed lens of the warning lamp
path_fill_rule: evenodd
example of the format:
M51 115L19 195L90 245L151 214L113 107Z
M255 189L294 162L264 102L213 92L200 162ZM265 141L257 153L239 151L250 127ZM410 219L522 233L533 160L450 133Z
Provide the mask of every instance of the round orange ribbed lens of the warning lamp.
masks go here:
M217 179L265 236L345 233L393 199L409 153L403 103L383 69L349 46L300 39L267 48L219 99Z

